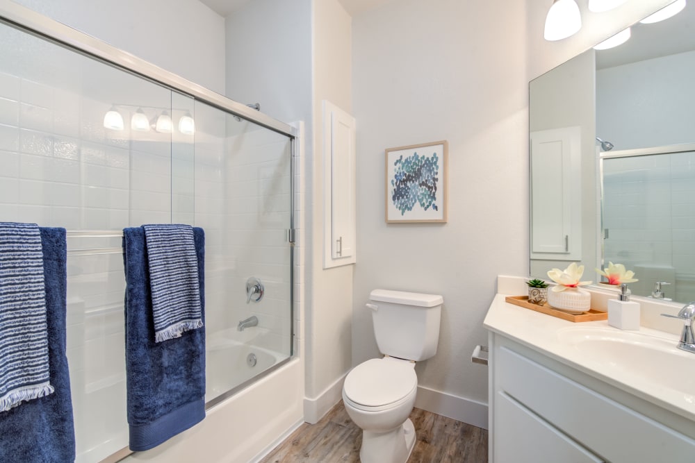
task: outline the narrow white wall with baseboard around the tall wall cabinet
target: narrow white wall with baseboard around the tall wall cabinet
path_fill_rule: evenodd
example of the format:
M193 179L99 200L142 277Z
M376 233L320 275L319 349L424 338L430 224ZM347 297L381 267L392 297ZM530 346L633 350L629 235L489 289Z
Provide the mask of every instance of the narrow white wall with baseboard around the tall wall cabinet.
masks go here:
M306 318L304 418L316 422L341 399L352 367L352 274L347 265L323 270L324 178L322 101L352 110L351 18L337 0L313 2L313 161L310 312ZM358 123L359 124L359 123ZM359 132L359 125L358 125ZM330 232L329 232L330 233ZM358 251L357 260L361 259Z

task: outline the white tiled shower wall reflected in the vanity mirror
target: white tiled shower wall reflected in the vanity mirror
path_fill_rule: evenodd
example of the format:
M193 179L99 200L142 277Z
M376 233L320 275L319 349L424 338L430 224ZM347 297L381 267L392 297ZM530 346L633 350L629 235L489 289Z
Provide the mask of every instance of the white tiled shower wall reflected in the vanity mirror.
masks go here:
M603 179L605 261L675 267L667 294L695 299L695 152L606 159ZM641 294L653 289L645 283Z

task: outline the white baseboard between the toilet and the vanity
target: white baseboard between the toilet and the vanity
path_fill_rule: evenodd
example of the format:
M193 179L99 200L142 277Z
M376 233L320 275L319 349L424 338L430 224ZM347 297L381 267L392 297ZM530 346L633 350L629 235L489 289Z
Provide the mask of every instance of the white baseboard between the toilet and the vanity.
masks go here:
M486 403L418 386L415 406L478 428L488 428Z

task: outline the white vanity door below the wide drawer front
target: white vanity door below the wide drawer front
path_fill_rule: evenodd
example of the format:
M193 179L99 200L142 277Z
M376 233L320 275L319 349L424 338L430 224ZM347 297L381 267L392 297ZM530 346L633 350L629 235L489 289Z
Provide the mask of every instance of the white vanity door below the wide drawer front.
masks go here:
M495 401L495 463L600 463L547 421L504 392Z

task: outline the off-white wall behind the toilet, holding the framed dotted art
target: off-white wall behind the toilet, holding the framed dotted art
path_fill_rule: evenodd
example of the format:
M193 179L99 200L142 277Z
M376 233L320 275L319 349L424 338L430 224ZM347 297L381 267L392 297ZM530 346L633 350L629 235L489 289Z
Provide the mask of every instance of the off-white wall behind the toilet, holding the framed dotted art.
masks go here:
M513 0L402 0L353 19L352 361L378 355L372 289L442 294L439 349L418 383L465 403L487 402L487 370L470 357L487 343L496 276L528 272L524 15ZM436 140L449 142L448 224L387 225L384 149Z

